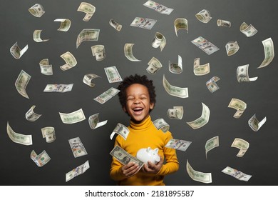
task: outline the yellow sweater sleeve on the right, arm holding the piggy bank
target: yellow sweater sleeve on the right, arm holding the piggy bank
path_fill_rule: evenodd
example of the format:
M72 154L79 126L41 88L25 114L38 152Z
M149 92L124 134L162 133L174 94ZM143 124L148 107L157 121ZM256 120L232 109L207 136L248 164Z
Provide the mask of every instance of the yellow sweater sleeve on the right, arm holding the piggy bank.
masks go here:
M168 131L165 145L168 143L170 139L173 139L172 134ZM170 149L167 147L163 147L163 154L165 159L165 164L161 167L160 171L158 171L157 175L165 176L167 174L172 174L179 169L179 162L177 161L177 154L175 149Z

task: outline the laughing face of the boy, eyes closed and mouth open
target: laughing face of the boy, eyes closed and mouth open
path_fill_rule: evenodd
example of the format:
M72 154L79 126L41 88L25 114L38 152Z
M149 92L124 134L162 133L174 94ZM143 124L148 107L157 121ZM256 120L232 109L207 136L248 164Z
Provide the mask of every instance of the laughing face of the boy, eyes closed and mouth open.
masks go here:
M126 106L123 110L135 121L146 119L154 106L154 103L150 103L148 88L141 84L132 84L125 89L125 95Z

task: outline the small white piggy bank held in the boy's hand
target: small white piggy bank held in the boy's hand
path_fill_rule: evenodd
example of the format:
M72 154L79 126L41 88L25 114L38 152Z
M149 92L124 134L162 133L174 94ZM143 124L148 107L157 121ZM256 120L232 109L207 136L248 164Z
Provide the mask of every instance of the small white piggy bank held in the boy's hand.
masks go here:
M136 154L136 158L143 161L145 164L148 164L148 161L151 161L153 164L158 164L160 161L160 156L158 156L158 148L150 149L139 149Z

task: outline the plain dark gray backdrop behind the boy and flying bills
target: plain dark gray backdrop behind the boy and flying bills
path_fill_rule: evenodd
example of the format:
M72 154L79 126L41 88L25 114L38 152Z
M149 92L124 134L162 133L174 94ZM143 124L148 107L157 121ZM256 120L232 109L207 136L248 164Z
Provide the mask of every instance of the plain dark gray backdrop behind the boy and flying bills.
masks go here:
M114 139L110 140L117 123L128 126L129 118L120 108L118 96L105 104L99 104L93 99L118 83L109 84L104 67L116 66L120 76L130 74L146 74L153 79L157 103L152 112L152 119L163 118L170 124L170 131L175 139L192 141L187 151L177 151L180 169L165 177L167 185L204 185L193 181L188 176L185 165L190 161L193 169L212 173L210 185L277 185L277 59L263 69L257 69L264 60L262 41L269 37L277 45L277 1L228 1L228 0L195 0L195 1L158 1L160 4L173 8L170 15L163 15L143 6L146 0L130 1L86 1L96 6L96 13L90 21L83 21L83 12L77 11L81 1L1 1L1 115L0 115L0 183L1 185L113 185L109 177ZM46 11L41 18L32 16L28 9L34 4L41 4ZM212 19L203 24L195 17L197 12L207 9ZM130 26L136 16L157 19L153 29L140 29ZM123 25L118 32L109 24L115 19ZM185 30L175 35L173 22L177 18L188 21L188 34ZM70 19L71 28L57 31L60 24L54 19ZM218 27L217 19L232 22L230 28ZM240 32L240 24L252 24L257 34L247 38ZM49 41L36 43L33 32L42 29L41 38ZM83 29L101 29L98 41L83 41L76 49L76 38ZM162 33L167 44L163 51L151 46L155 32ZM220 48L219 51L205 54L191 41L202 36ZM18 41L21 48L26 44L29 49L16 60L9 49ZM233 56L227 56L225 44L237 41L240 50ZM125 58L123 46L133 43L133 54L142 61L132 62ZM103 44L106 58L96 61L92 56L91 46ZM60 55L70 51L78 64L68 71L61 71L64 64ZM275 52L277 54L277 52ZM177 55L182 56L183 71L181 74L171 74L168 61L177 63ZM148 61L155 56L163 64L163 68L155 75L145 70ZM53 65L53 75L41 74L39 61L49 59ZM205 76L193 74L193 61L200 58L200 64L210 63L210 73ZM258 76L257 81L237 82L237 66L249 64L249 76ZM21 96L14 86L21 70L31 75L26 88L30 99ZM95 87L83 84L85 74L97 74L101 78L94 79ZM170 84L188 87L189 98L181 99L170 96L163 88L163 74ZM210 93L205 83L212 76L220 77L217 85L220 89ZM44 93L46 84L71 84L73 90L64 94ZM247 103L247 109L240 119L233 118L235 109L228 108L232 98L241 99ZM200 129L192 129L186 121L193 121L202 113L202 102L210 108L210 121ZM25 119L26 111L36 105L34 111L42 114L37 121ZM167 111L173 106L183 106L185 113L181 120L169 119ZM77 124L63 124L59 112L70 113L83 109L86 120ZM100 121L108 120L108 124L98 129L91 129L88 117L99 113ZM259 131L250 129L248 120L256 114L262 120L267 116L267 122ZM16 144L6 134L6 124L20 134L31 134L33 145ZM41 136L41 128L53 126L56 131L56 141L46 143ZM74 158L68 139L79 136L88 155ZM213 136L220 137L220 146L208 153L205 159L205 142ZM237 157L239 149L232 148L235 138L249 142L247 153ZM30 159L31 151L37 154L46 150L51 161L39 168ZM90 162L90 169L85 174L65 182L65 174L76 166ZM245 174L251 174L248 182L238 181L221 171L226 166L238 169Z

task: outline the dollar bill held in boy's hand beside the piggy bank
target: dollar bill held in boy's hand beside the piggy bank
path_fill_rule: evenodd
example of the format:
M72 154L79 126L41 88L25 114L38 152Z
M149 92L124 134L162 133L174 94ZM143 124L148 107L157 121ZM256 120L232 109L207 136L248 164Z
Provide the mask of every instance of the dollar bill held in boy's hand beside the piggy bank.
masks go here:
M127 151L123 150L118 145L116 145L112 149L112 151L110 151L110 155L113 156L115 159L117 159L123 165L129 164L130 162L134 162L135 164L138 164L139 169L141 169L141 167L144 165L143 161L140 161L134 156L128 154Z

